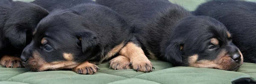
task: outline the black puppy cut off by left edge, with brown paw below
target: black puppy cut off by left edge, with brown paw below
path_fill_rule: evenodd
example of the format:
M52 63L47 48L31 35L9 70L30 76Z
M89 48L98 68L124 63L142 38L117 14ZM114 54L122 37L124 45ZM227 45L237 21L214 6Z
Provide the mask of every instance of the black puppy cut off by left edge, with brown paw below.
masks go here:
M20 54L48 11L33 3L0 0L0 65L22 67Z

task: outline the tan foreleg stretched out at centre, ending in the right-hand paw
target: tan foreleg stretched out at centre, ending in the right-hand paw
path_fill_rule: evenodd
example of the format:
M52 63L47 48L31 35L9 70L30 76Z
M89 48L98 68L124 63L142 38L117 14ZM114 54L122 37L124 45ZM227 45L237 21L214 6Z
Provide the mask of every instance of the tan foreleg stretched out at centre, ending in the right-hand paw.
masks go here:
M130 59L134 70L151 72L152 68L154 68L136 41L128 42L127 45L121 49L119 54Z

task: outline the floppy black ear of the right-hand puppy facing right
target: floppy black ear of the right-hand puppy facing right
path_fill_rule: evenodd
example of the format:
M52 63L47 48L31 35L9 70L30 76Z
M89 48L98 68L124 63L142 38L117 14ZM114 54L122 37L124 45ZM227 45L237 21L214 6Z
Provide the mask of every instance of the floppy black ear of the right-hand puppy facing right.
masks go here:
M165 56L167 61L173 63L175 66L182 64L182 52L181 52L181 43L172 41L169 43L169 46L166 47Z

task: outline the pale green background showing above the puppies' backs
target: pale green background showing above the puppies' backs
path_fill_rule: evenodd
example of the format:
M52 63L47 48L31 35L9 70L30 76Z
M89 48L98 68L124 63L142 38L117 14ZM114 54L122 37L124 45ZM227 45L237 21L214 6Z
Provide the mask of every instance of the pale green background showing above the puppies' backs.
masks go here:
M30 2L33 0L20 0L25 2ZM195 10L195 8L200 5L201 3L204 3L207 0L169 0L172 3L177 3L179 5L183 5L184 8L186 8L189 11ZM256 2L256 0L244 0L244 1L253 1Z

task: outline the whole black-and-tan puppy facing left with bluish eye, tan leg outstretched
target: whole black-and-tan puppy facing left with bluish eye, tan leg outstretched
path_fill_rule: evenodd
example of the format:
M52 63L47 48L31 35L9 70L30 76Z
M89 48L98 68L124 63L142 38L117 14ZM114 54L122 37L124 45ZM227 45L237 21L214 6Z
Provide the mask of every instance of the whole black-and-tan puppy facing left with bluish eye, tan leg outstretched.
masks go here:
M21 59L32 71L72 68L79 74L93 74L99 69L96 64L115 55L130 58L127 66L131 62L136 70L152 70L121 16L105 6L84 3L42 19Z

